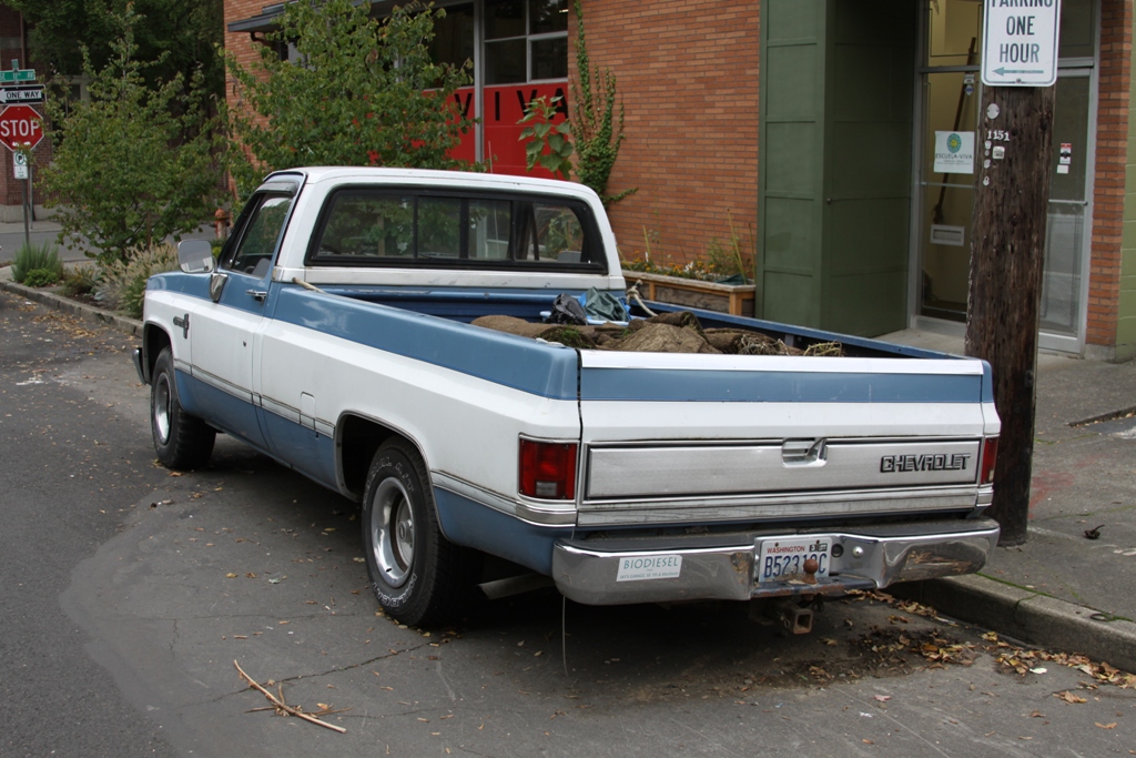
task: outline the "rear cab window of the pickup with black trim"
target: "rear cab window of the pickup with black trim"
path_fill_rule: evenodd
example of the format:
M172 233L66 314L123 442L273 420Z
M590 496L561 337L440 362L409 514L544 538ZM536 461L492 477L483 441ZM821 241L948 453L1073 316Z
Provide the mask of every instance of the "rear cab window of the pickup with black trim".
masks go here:
M306 263L607 273L599 227L585 202L399 188L332 193Z

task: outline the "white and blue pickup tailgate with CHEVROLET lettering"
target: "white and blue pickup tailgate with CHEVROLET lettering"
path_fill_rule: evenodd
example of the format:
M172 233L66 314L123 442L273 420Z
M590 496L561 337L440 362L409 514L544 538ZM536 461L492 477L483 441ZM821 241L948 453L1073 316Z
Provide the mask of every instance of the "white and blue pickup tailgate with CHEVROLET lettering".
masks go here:
M983 361L587 350L580 361L579 526L988 503L979 458L999 422Z

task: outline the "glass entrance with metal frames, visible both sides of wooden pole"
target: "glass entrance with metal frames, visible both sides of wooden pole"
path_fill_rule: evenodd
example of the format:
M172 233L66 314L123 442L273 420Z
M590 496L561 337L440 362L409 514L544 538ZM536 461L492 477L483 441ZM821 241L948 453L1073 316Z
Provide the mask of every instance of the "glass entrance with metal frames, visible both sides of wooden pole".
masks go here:
M919 263L913 268L920 278L912 282L912 307L917 317L961 324L969 291L974 172L983 149L977 134L983 6L972 0L928 6L912 225ZM1054 92L1039 344L1071 352L1081 349L1087 318L1097 14L1094 0L1062 3Z

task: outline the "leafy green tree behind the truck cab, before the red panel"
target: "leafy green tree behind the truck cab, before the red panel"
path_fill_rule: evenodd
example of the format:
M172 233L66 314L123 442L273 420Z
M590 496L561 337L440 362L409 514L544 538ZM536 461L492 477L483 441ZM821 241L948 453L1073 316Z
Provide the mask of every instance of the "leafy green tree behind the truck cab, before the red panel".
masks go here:
M469 75L429 55L434 18L444 11L412 2L376 20L368 6L285 6L267 36L290 42L298 63L281 60L268 45L252 69L227 56L241 101L231 123L252 157L239 183L293 166L461 165L448 153L473 125L453 98Z

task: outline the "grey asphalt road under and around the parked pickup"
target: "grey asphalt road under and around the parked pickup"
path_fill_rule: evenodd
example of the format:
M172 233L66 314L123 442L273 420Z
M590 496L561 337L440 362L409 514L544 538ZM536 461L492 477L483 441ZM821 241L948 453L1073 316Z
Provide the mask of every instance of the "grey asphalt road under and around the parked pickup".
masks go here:
M0 292L0 755L1136 750L1136 691L1014 673L983 630L871 598L788 638L733 606L550 590L392 623L352 503L224 438L203 472L154 465L128 347ZM253 710L234 660L346 732Z

